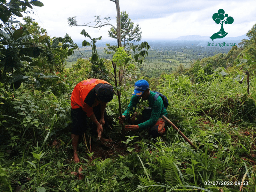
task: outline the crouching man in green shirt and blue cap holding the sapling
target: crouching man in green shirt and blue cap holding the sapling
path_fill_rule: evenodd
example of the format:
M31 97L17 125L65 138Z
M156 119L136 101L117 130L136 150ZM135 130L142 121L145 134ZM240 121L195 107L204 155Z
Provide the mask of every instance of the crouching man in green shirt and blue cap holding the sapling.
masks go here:
M134 85L134 92L128 108L121 117L118 117L119 124L124 120L131 121L130 125L125 126L126 131L143 131L148 129L153 138L163 135L165 132L165 121L162 116L167 116L164 103L161 97L155 97L156 93L149 90L149 84L146 80L139 80ZM142 116L134 113L133 108L137 107L140 99L148 100L148 107L143 106ZM130 112L134 113L130 118Z

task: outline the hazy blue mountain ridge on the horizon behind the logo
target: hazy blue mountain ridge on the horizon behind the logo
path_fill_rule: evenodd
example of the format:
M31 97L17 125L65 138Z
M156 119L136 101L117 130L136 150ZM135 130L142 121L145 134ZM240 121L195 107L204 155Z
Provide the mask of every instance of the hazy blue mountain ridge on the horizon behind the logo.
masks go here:
M201 41L201 40L209 40L210 36L200 36L200 35L187 35L187 36L180 36L173 40L184 40L184 41ZM246 34L237 37L224 37L222 39L214 39L214 41L241 41L242 39L248 39ZM211 40L211 39L210 39ZM209 41L210 41L209 40ZM212 40L211 40L212 41Z

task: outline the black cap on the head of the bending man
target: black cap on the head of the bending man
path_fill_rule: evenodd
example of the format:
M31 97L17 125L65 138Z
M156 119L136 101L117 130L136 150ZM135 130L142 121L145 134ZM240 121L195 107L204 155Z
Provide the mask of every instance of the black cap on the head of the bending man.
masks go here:
M96 91L100 101L109 102L113 99L113 87L110 84L102 84Z

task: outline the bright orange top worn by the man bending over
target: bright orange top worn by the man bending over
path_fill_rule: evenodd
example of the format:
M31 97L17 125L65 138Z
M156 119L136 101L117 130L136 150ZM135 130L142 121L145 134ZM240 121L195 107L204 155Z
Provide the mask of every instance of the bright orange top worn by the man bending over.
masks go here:
M87 79L78 83L72 94L71 94L71 108L76 109L82 107L82 109L86 112L86 115L90 117L93 114L92 106L89 106L84 102L85 98L88 96L88 93L92 91L92 89L97 84L109 84L107 81L101 79ZM89 97L89 96L88 96ZM96 96L95 96L96 98ZM95 98L86 98L86 99L95 99ZM94 106L97 106L100 101L96 100L94 102Z

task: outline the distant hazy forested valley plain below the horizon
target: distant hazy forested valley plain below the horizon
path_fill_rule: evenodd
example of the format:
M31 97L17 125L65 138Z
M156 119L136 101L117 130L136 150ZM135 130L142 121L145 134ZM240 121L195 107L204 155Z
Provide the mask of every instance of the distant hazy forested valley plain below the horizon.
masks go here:
M115 41L111 40L112 44L116 44ZM190 68L192 63L196 60L202 60L203 58L211 57L216 54L222 53L227 54L232 46L207 46L209 41L182 41L182 40L148 40L150 50L148 56L145 58L145 62L142 65L138 65L138 72L151 77L158 77L163 72L170 73L177 70L179 66L181 68ZM222 41L217 41L223 43ZM79 51L86 57L91 57L91 47L82 47L82 40L76 42L79 46ZM112 54L107 54L105 49L107 48L106 43L108 41L100 41L96 43L97 52L101 58L112 59ZM238 41L225 41L226 44L237 44ZM84 56L75 50L75 53L68 57L67 68L70 68L76 63L77 59L84 58ZM147 71L147 73L145 73Z

